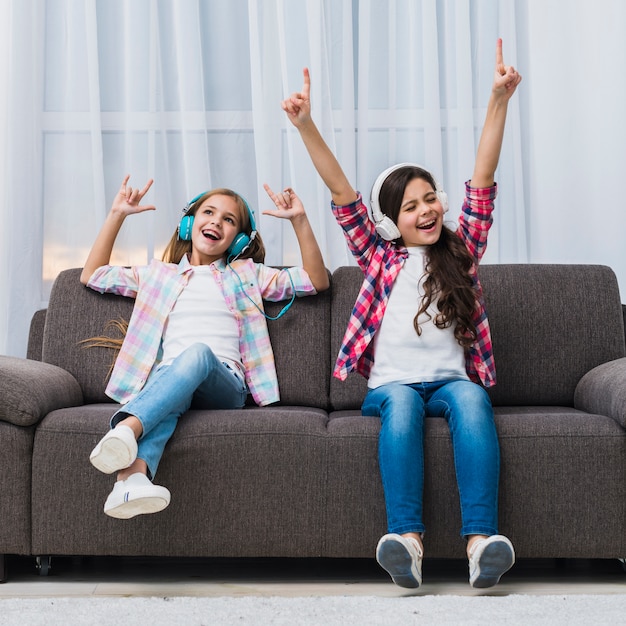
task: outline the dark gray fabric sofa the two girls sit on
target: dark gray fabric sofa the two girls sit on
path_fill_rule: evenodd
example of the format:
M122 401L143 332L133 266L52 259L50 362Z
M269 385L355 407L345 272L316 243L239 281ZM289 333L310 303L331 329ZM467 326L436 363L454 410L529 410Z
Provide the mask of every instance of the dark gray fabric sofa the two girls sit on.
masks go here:
M57 278L33 318L28 359L0 357L0 555L366 557L385 532L379 420L363 417L365 381L331 376L361 282L269 322L280 405L190 411L158 482L172 502L120 521L102 505L113 478L89 452L117 405L111 353L81 340L126 318L132 300ZM589 265L486 265L481 278L498 385L500 526L518 558L626 556L626 343L614 273ZM269 314L280 303L268 303ZM461 558L450 437L426 424L428 557ZM1 557L4 572L4 557Z

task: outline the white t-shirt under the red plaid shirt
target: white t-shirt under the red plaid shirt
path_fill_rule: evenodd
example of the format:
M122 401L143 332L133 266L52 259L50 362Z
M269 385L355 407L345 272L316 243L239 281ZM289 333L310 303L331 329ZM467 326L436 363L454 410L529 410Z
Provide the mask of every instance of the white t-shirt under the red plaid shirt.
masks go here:
M467 379L465 352L454 337L454 325L437 328L438 313L433 300L419 318L421 335L415 332L413 319L424 295L423 283L426 246L408 248L393 285L385 315L374 337L374 365L367 386L370 389L387 383L420 383Z

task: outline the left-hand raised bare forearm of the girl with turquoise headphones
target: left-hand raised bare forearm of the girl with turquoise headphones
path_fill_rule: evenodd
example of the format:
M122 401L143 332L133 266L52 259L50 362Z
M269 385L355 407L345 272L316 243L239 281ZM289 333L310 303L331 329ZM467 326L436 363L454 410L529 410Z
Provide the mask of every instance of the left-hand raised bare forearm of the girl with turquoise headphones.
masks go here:
M80 275L80 282L83 283L83 285L89 282L89 278L99 267L108 265L111 260L115 239L120 232L120 228L126 216L143 211L154 211L155 209L153 205L139 204L146 193L148 193L148 189L152 186L153 181L149 180L145 187L140 190L128 186L129 178L129 175L124 178L117 195L113 199L111 210L87 256L85 266Z

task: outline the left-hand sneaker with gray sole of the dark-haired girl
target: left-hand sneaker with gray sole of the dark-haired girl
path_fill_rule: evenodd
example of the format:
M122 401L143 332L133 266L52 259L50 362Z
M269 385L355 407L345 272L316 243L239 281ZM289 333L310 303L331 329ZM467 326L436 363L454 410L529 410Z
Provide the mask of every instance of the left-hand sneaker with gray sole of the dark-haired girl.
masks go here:
M399 587L415 589L422 584L424 553L413 537L384 535L376 547L376 560Z

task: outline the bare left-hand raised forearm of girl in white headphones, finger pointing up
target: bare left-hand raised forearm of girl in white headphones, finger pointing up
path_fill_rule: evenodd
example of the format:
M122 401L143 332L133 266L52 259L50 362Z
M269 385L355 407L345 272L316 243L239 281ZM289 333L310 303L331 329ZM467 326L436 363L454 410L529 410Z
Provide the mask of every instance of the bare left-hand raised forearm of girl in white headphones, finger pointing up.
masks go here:
M300 132L315 169L330 190L333 202L338 205L350 204L356 200L356 191L311 118L311 77L307 68L304 68L303 73L302 90L283 100L281 106Z

